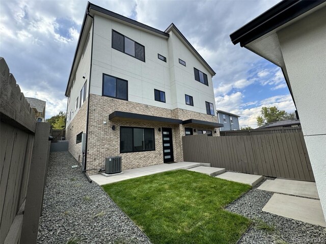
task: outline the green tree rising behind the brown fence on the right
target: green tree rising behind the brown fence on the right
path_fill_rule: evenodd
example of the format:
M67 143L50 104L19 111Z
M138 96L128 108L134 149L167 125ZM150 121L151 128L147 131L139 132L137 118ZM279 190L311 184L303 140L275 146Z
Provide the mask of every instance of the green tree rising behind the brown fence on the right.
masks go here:
M279 110L277 107L262 107L261 116L257 117L258 127L272 123L275 121L281 121L285 119L295 119L295 113L287 113L285 110Z

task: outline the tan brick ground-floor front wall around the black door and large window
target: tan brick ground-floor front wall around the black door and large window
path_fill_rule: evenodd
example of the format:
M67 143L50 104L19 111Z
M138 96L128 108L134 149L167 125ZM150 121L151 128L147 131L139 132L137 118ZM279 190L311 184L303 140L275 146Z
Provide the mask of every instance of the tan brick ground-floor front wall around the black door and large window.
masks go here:
M184 128L190 126L108 120L108 115L114 111L178 118L182 120L194 118L217 122L216 116L183 109L170 110L91 94L87 145L88 174L98 173L100 168L104 168L105 157L111 156L122 157L123 170L163 163L162 132L158 131L158 128L162 127L172 128L174 160L177 162L183 161L181 137L184 136ZM103 124L103 121L106 121L106 124ZM115 125L115 130L112 130L113 125ZM155 150L120 154L120 126L154 128ZM212 130L211 128L196 127L196 130L198 129ZM214 132L214 130L212 131ZM219 135L219 131L216 131L217 133L213 133L213 136ZM197 131L194 134L197 134Z

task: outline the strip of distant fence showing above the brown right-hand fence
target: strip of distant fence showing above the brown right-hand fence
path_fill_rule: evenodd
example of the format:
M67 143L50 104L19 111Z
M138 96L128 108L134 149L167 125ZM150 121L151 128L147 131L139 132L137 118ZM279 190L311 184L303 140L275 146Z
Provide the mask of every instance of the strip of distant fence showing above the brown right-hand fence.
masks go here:
M261 129L261 130L237 130L237 131L220 131L220 136L253 136L253 135L268 135L279 133L301 132L301 128L282 128L282 129Z

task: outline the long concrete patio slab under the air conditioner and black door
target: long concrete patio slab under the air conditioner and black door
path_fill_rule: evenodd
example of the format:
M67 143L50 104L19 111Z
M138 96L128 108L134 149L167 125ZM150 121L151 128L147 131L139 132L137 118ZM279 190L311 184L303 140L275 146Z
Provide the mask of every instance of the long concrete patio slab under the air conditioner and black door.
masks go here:
M114 175L110 177L105 177L101 174L90 175L91 180L96 182L98 185L110 184L113 182L118 182L125 179L131 179L136 177L141 177L150 174L156 174L160 172L166 172L178 169L190 169L198 166L210 167L210 164L206 163L194 163L194 162L177 162L172 164L157 164L135 169L123 170L123 174Z

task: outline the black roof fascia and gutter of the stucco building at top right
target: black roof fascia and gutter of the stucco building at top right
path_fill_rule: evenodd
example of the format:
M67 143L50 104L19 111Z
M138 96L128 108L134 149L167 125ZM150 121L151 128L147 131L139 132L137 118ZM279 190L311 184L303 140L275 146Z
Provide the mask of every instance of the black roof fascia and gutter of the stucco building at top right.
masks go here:
M325 0L284 0L233 32L230 35L231 41L234 45L240 43L243 47L324 2Z

